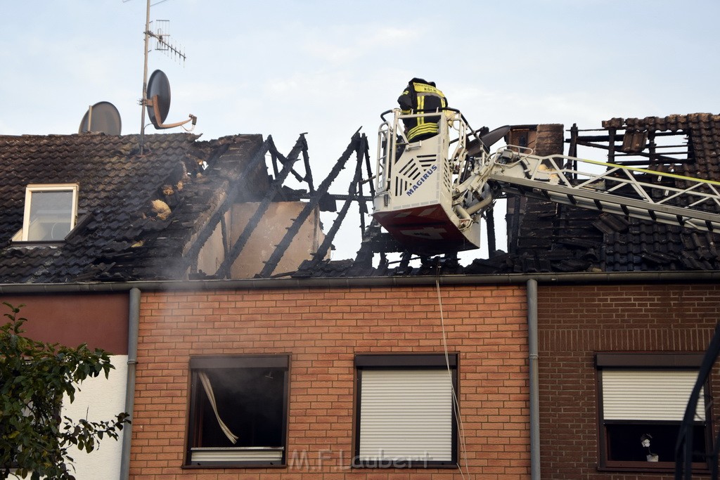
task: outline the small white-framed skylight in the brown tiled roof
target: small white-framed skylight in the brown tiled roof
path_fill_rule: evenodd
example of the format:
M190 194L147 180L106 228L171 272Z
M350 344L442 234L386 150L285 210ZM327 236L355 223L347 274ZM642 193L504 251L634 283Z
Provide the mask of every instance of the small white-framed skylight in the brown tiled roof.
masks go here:
M63 240L75 227L77 214L78 184L28 185L22 231L14 240Z

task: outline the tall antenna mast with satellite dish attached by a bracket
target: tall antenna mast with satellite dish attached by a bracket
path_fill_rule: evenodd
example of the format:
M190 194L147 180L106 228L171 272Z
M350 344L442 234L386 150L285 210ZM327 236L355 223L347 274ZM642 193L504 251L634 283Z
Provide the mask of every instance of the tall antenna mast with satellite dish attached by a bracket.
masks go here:
M153 32L153 30L150 30L150 0L147 0L147 7L145 9L145 65L143 68L143 98L140 99L140 110L142 112L142 117L140 119L140 155L143 155L143 148L145 145L146 108L148 109L151 122L157 129L179 127L187 122L192 122L194 127L197 122L197 117L194 117L194 115L191 114L189 116L190 118L184 122L163 124L168 109L170 108L170 85L167 77L161 71L153 72L153 76L150 78L150 80L155 80L153 88L156 91L150 92L153 96L148 98L148 53L150 52L150 38L155 40L155 50L161 50L168 56L174 57L177 60L182 60L183 63L186 59L184 50L181 50L180 47L170 41L169 24L169 20L158 20L156 25L157 31Z

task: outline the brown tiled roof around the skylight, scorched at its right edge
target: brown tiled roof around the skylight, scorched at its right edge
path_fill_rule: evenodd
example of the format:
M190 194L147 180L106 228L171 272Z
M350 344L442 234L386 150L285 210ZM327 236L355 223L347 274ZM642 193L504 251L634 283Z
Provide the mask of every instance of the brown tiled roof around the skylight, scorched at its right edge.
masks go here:
M145 135L139 155L138 135L0 136L0 282L183 278L183 254L228 192L251 201L266 188L264 161L246 171L261 145L260 135ZM79 184L68 237L12 241L26 186L68 183Z

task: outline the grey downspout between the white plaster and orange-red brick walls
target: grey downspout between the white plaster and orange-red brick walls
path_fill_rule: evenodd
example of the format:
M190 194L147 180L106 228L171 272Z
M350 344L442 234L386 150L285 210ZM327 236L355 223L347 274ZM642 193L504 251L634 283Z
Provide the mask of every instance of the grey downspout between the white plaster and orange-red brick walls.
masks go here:
M127 382L125 384L125 412L134 421L132 409L135 407L135 366L138 363L138 330L140 328L140 289L130 289L130 308L127 325ZM120 480L130 478L130 440L132 423L122 429L122 453L120 457Z

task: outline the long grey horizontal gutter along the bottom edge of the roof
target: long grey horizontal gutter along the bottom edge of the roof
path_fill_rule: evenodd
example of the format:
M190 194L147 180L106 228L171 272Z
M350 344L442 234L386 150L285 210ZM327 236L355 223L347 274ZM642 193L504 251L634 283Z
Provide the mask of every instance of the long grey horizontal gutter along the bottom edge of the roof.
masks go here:
M619 273L536 273L505 275L372 276L305 279L157 280L68 284L0 284L0 294L77 293L130 291L212 291L231 289L348 288L353 286L431 285L521 285L538 284L624 284L696 282L716 283L720 271L619 272Z

